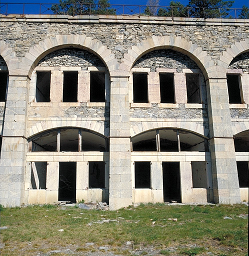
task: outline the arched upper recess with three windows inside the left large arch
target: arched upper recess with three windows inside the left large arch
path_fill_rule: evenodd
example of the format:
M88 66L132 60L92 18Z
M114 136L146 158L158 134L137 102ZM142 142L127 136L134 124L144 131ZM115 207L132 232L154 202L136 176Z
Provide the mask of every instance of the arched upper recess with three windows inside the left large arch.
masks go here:
M35 102L105 101L105 66L87 50L55 50L43 57L34 70Z

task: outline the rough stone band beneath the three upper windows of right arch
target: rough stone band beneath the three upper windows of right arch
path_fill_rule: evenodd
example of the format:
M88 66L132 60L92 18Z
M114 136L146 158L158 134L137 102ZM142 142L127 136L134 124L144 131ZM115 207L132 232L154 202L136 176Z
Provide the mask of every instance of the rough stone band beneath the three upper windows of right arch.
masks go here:
M158 107L157 103L152 103L150 108L132 107L130 109L132 118L208 118L207 108L185 108L184 104L179 104L178 108Z

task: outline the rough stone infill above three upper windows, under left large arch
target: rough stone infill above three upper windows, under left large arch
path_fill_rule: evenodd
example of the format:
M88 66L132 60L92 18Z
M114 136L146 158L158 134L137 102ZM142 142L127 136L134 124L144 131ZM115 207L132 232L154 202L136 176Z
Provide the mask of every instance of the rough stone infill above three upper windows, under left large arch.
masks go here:
M80 49L60 49L47 54L38 66L104 66L103 62L94 54Z

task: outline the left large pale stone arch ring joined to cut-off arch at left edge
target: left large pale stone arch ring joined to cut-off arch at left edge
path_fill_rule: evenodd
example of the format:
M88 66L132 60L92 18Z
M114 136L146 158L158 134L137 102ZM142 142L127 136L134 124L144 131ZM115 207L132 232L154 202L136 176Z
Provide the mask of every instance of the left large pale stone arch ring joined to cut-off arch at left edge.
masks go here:
M79 49L88 50L97 55L106 65L109 71L117 68L118 63L114 58L114 54L106 45L103 45L96 39L91 39L84 34L80 35L56 35L40 41L26 52L21 61L12 52L4 42L1 42L1 52L4 60L9 67L10 75L27 75L30 77L34 67L38 62L48 53L68 47L75 47Z

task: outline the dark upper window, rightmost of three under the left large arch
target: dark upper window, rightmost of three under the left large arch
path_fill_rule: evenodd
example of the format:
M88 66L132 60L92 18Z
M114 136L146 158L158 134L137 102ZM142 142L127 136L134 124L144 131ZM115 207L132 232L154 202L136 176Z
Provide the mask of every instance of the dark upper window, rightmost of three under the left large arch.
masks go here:
M90 102L105 101L105 73L90 72Z

